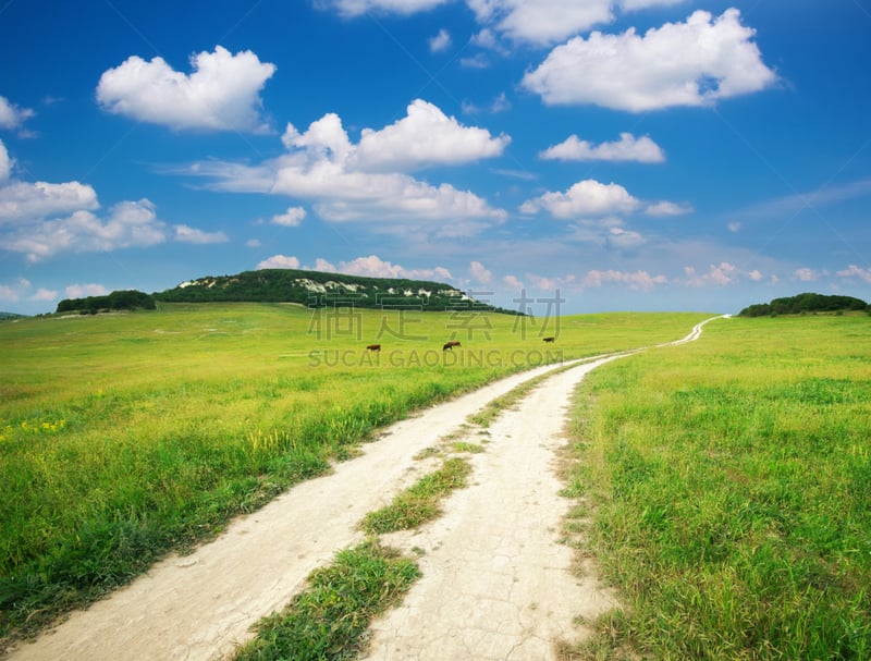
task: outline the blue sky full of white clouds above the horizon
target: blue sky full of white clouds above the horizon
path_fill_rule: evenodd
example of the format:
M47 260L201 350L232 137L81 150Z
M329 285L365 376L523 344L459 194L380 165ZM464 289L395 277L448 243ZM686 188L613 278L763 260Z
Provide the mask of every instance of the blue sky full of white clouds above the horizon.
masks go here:
M0 0L0 310L262 268L871 301L869 44L871 0Z

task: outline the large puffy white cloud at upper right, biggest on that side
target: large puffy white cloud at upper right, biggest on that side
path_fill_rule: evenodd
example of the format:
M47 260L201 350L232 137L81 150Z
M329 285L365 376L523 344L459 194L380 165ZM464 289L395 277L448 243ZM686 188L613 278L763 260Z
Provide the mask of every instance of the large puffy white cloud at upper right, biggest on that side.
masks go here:
M643 36L599 32L554 48L523 79L548 105L594 103L641 112L703 106L763 89L776 79L752 41L755 30L728 9L695 12Z

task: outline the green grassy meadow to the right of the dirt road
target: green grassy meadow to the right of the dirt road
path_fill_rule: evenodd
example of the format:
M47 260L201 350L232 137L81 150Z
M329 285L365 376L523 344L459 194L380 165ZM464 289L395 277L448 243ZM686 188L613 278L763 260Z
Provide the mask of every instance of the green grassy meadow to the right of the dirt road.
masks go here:
M571 659L871 659L871 319L717 320L608 364L574 423L623 609Z

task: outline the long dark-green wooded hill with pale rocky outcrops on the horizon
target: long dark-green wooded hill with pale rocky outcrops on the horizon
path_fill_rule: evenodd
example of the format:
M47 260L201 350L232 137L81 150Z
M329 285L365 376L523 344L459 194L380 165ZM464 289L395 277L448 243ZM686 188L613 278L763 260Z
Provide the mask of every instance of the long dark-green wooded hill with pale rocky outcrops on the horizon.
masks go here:
M441 282L364 278L298 269L263 269L207 276L155 293L167 303L297 303L308 307L355 306L424 310L476 309L512 313L477 301Z

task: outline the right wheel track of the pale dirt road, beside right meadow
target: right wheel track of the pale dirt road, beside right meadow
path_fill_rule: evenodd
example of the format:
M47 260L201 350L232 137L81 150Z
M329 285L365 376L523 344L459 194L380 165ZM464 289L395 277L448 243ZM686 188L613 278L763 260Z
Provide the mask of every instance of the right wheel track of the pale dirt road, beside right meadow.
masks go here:
M573 574L562 519L559 451L574 388L604 358L550 377L491 425L471 486L420 531L382 536L418 553L422 577L377 620L371 661L545 661L586 634L573 621L615 605L594 575Z

